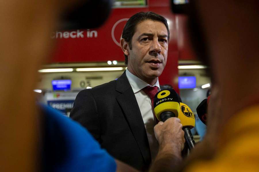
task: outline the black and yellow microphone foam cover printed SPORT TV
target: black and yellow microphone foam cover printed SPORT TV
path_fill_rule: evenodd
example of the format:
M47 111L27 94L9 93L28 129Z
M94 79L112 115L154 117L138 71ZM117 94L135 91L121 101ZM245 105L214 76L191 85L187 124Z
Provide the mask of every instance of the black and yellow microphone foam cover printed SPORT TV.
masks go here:
M173 112L178 117L180 111L179 98L173 89L165 89L157 92L154 98L154 113L159 121L162 112Z

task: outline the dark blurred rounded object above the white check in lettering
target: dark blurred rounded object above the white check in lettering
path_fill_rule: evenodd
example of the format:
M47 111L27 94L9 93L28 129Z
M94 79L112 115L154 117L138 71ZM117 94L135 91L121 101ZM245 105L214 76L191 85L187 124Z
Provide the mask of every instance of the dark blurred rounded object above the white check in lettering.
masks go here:
M60 30L100 27L109 17L113 0L84 0L61 16Z

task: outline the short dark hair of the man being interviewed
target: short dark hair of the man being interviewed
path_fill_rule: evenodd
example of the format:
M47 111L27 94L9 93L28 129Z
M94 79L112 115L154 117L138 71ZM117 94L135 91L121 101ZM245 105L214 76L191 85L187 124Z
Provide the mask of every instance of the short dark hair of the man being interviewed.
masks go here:
M167 24L167 19L165 19L165 17L153 13L151 11L149 12L139 12L136 13L134 15L132 15L132 17L129 18L129 20L127 21L127 23L125 24L124 28L123 28L123 32L122 32L122 38L125 39L126 42L129 43L129 49L132 49L132 37L134 35L134 33L136 32L136 26L137 24L139 24L141 21L144 20L153 20L153 21L161 21L166 29L167 29L167 34L168 34L168 40L170 38L170 31L168 28L168 24ZM125 64L128 64L128 56L125 56Z

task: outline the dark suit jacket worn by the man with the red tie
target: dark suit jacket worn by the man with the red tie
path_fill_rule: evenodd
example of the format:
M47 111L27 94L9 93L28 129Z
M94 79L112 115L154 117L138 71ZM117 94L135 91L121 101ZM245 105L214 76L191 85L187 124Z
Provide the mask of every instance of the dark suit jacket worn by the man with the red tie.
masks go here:
M116 159L147 170L151 154L144 122L124 72L115 81L78 93L70 117Z

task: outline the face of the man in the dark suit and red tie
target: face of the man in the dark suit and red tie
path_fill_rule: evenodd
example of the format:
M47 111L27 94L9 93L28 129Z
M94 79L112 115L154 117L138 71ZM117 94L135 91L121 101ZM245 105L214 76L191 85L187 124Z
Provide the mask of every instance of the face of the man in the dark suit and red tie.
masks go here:
M168 35L160 21L145 20L136 26L129 49L128 70L146 81L157 80L167 61Z

